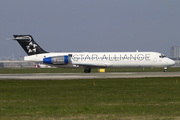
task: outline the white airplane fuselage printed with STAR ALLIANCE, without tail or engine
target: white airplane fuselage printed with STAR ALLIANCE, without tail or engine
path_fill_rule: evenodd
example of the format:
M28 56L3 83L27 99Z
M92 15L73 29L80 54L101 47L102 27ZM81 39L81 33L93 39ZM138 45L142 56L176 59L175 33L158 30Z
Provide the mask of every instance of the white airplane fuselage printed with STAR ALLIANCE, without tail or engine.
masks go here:
M25 61L43 63L44 58L72 55L64 65L48 64L55 67L169 67L175 62L157 52L72 52L44 53L25 56ZM44 63L46 64L46 63Z

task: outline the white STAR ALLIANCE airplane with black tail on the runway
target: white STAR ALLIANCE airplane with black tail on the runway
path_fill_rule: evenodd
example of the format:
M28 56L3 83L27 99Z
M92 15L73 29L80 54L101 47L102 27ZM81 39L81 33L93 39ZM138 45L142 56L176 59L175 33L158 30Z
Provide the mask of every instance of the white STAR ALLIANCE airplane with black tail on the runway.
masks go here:
M93 68L125 67L167 67L175 62L158 52L47 52L42 49L31 35L13 35L28 56L25 61L37 62L52 67L84 68L90 73Z

